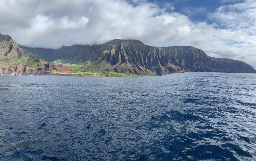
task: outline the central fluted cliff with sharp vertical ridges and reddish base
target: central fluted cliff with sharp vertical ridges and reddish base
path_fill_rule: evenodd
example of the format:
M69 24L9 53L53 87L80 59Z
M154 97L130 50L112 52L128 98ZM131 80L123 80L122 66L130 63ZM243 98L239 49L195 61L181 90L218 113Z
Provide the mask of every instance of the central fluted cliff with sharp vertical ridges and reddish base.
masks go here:
M105 50L98 61L107 61L116 72L163 75L187 70L173 65L158 47L145 45L138 40L112 40L112 42L114 42L113 46ZM133 68L128 68L129 65ZM126 68L120 70L122 66Z

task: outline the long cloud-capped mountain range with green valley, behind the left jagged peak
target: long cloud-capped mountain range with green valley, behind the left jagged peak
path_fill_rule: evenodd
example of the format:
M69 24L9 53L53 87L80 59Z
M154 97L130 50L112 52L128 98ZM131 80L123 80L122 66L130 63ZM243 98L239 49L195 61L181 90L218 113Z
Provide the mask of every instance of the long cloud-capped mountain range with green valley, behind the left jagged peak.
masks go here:
M24 47L31 56L80 72L163 75L178 72L256 73L237 60L218 59L191 46L154 47L138 40L111 40L101 45L72 45L59 49ZM74 68L74 65L77 65Z

